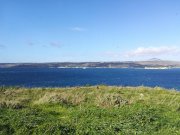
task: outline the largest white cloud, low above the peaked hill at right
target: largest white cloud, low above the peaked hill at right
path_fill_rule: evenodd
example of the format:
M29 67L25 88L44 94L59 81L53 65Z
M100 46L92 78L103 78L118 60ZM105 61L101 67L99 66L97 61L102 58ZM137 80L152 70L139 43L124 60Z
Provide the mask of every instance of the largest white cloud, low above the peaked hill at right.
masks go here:
M173 55L180 52L180 49L175 46L161 46L161 47L138 47L135 50L129 51L125 54L126 57L138 56L160 56Z

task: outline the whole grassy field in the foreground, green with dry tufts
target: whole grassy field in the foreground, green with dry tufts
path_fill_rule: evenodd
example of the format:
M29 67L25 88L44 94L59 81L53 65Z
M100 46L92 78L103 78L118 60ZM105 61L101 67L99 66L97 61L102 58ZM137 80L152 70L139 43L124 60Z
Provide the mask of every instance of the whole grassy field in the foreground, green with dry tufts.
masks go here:
M0 88L0 135L180 134L180 92L146 87Z

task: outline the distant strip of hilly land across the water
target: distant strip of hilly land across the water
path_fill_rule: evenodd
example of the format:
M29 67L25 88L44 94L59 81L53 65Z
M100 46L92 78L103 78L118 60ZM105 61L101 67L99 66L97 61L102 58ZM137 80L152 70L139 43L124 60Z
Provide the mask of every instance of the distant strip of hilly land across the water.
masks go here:
M123 62L54 62L54 63L0 63L0 68L179 68L180 61L152 58L147 61Z

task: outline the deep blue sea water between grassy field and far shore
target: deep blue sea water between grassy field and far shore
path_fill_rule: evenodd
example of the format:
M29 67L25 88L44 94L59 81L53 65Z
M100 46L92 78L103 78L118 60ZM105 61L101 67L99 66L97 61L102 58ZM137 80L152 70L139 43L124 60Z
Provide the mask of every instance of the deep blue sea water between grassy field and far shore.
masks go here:
M150 86L180 90L180 69L1 68L0 86Z

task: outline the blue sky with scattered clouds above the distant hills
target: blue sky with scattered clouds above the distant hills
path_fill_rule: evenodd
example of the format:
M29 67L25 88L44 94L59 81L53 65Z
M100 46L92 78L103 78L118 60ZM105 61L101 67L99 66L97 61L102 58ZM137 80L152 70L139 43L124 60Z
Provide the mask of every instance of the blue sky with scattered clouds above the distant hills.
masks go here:
M180 60L179 0L0 0L0 63Z

